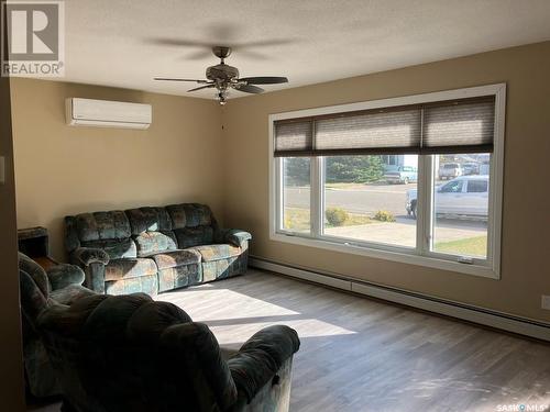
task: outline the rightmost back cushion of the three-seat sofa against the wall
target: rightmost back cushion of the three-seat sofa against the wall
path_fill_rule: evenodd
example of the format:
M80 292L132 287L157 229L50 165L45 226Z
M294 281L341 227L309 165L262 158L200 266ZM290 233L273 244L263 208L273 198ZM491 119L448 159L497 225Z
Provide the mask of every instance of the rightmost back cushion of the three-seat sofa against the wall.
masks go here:
M199 203L170 204L166 210L179 248L213 243L216 220L210 208Z

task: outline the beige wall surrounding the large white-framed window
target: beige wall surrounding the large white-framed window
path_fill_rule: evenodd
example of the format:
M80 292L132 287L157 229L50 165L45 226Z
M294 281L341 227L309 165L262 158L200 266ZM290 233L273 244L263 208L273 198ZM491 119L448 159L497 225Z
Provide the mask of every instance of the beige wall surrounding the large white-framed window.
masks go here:
M232 100L223 109L223 153L232 170L224 179L226 222L252 231L258 257L550 321L550 311L540 309L541 294L550 294L549 74L547 42ZM503 81L502 280L270 241L268 114Z

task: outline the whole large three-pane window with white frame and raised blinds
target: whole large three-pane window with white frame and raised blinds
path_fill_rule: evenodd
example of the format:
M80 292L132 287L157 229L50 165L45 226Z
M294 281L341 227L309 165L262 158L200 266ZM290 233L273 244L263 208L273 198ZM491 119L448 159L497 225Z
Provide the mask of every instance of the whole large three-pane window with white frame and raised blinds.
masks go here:
M505 86L270 116L272 238L499 276Z

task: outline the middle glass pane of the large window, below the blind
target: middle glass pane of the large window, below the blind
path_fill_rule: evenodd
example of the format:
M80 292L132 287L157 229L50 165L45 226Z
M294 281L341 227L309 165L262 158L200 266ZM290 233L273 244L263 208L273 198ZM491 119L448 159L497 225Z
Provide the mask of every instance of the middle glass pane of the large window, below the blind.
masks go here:
M406 192L417 182L417 156L410 157L415 167L386 172L376 155L323 157L322 234L415 247L416 221L405 210Z

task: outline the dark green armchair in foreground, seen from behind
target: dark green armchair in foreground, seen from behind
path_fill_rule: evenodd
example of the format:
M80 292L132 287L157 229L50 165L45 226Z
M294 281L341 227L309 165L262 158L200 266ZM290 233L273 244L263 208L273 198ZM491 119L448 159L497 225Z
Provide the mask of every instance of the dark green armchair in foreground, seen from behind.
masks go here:
M66 411L288 411L296 331L270 326L228 360L207 325L144 293L53 305L38 325Z

